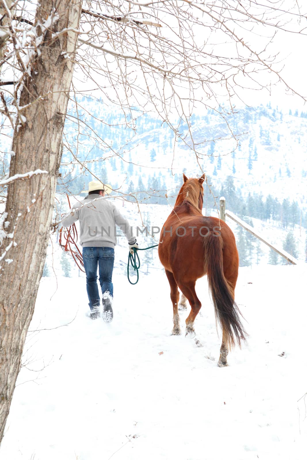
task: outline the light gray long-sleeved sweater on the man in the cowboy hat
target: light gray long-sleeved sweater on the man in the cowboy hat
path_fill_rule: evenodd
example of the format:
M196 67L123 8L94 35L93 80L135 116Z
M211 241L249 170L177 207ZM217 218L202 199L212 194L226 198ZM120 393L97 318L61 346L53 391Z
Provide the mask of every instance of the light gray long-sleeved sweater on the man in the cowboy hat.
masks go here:
M101 195L88 195L84 200L76 202L70 213L64 216L62 225L69 227L79 220L80 244L82 247L114 247L116 245L116 225L120 227L129 243L135 236L127 219L118 211L112 201Z

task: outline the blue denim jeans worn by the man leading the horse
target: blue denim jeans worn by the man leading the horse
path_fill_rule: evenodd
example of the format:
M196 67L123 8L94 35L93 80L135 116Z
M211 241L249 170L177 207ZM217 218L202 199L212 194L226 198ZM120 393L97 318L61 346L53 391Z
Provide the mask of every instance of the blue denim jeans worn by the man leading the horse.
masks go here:
M84 270L87 275L87 296L89 307L93 310L100 305L97 285L97 267L99 268L99 283L102 294L106 291L113 297L112 273L114 265L113 247L83 247Z

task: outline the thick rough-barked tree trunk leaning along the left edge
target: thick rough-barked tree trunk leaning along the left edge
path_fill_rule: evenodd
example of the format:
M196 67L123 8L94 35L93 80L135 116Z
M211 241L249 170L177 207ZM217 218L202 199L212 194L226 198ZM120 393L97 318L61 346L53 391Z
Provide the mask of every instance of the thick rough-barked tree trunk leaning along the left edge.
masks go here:
M21 109L23 116L17 119L10 176L37 170L48 173L29 174L8 186L9 224L4 225L7 238L1 249L1 255L6 254L0 262L0 440L46 257L81 3L38 3L35 24L41 24L37 34L42 40L36 41L39 52L28 66L20 96L19 108L30 105Z

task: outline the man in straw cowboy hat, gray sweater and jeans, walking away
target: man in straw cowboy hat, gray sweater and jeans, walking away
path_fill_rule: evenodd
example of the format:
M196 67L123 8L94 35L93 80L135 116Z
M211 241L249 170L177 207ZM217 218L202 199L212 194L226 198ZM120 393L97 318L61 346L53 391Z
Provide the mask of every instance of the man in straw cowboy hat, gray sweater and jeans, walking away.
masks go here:
M126 236L129 250L138 247L133 231L127 219L118 211L112 201L104 198L110 193L110 185L99 181L89 183L88 195L70 209L62 220L64 227L79 220L80 244L84 270L87 276L87 296L91 309L91 318L100 317L100 297L97 285L97 268L99 269L99 283L102 291L103 319L111 322L113 319L112 300L113 283L112 273L114 265L114 247L116 245L116 225Z

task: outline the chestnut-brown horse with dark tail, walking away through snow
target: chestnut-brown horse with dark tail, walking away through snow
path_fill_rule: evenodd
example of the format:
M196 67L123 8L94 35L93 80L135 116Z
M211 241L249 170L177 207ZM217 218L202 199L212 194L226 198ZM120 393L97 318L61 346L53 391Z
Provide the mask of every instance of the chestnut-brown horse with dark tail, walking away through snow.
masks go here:
M191 305L191 312L185 320L185 335L194 334L194 320L202 306L195 292L195 283L207 274L215 317L223 331L218 365L224 367L227 366L228 349L235 344L235 339L241 345L246 334L234 301L239 266L236 241L225 222L202 214L205 175L188 179L184 174L183 179L184 184L163 225L159 243L159 257L171 288L173 334L181 334L178 287L183 294L180 304L184 305L187 298Z

